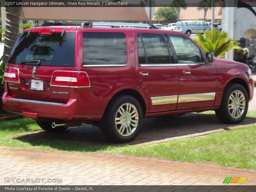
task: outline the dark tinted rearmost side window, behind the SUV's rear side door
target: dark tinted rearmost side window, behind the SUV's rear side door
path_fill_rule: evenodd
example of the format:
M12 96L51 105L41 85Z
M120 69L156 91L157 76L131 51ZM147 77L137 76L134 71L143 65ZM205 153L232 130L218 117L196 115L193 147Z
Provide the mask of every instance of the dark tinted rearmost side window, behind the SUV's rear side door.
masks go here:
M84 65L124 65L126 60L124 33L84 33Z

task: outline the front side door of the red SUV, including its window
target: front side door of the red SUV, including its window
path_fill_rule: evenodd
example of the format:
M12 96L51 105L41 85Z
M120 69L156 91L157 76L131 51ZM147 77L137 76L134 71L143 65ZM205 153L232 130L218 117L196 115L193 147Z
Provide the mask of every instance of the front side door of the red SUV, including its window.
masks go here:
M213 106L217 87L214 62L205 64L200 49L186 36L169 34L169 38L180 77L177 109Z

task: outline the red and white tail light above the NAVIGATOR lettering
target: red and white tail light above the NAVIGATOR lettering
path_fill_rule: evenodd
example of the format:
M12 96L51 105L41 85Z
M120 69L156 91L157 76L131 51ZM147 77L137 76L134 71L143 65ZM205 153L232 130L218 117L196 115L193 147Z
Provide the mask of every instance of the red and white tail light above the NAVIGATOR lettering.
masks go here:
M51 86L82 88L90 87L89 77L84 71L54 71Z

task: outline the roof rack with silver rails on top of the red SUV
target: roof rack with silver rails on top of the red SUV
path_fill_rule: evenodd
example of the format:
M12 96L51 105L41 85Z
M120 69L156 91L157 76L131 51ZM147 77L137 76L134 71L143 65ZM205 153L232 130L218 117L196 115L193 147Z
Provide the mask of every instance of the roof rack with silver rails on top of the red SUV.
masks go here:
M80 26L81 28L88 27L112 27L112 28L120 28L120 27L130 27L130 28L156 28L153 25L145 24L145 23L122 23L122 22L89 22L89 21L75 21L75 22L46 22L42 24L42 27L47 26ZM157 29L157 28L156 28Z

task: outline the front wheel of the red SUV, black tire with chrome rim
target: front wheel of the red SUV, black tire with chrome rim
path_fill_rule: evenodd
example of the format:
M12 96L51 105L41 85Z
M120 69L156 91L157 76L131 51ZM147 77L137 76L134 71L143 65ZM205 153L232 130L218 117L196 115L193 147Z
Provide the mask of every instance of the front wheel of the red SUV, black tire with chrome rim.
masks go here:
M241 100L241 102L234 99L235 97L234 95L236 95L236 92L238 93L237 97L239 97L239 95L242 97L242 93L243 93L244 99L238 98L238 100ZM233 102L231 100L230 98L231 94L233 94L232 99L235 100L236 102ZM243 99L243 102L242 102L242 99ZM220 108L215 111L216 116L222 123L226 123L226 124L240 123L244 120L246 116L246 113L248 110L248 102L249 102L248 93L242 85L234 84L234 83L228 84L224 90ZM238 108L238 109L234 109L234 108ZM242 113L242 115L238 113L238 110Z

